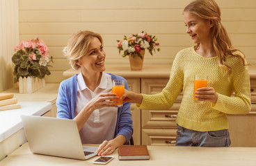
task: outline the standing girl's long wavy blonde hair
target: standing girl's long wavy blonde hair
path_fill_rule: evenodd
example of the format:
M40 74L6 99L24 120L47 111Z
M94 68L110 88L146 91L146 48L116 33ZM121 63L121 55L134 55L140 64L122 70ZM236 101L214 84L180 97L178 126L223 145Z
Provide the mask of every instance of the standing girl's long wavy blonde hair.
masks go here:
M243 62L243 66L247 65L244 55L234 53L237 49L232 48L227 31L221 24L221 10L214 0L192 1L188 6L186 6L184 12L190 12L201 19L212 20L214 22L214 26L211 28L211 35L214 42L214 50L218 57L218 63L221 67L229 71L229 73L232 72L230 66L226 63L227 55L239 57ZM199 44L194 46L195 50L198 49L198 47Z

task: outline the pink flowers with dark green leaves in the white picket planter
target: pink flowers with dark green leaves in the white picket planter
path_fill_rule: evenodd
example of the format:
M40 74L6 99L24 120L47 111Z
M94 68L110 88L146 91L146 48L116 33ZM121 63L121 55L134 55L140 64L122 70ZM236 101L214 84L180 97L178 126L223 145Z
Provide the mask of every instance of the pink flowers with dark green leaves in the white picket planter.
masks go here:
M49 59L47 45L38 37L17 44L12 61L15 64L14 82L18 82L19 77L38 77L41 79L45 75L51 74L48 64L52 62L52 57Z

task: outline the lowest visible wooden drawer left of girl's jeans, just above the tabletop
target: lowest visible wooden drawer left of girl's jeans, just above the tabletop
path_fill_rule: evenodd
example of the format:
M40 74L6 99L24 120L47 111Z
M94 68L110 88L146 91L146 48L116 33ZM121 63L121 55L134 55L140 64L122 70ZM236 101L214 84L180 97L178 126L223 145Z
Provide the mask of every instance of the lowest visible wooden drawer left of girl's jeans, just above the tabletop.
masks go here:
M176 133L176 129L142 129L142 144L175 146Z

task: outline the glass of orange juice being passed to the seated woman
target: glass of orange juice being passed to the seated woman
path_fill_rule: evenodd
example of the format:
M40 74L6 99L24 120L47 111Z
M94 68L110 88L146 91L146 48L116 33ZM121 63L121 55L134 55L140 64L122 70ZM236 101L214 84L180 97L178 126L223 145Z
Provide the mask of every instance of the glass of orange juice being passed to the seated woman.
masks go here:
M125 80L113 80L112 93L116 93L119 98L125 93ZM115 99L118 101L117 106L122 107L123 100ZM115 101L113 100L113 101Z

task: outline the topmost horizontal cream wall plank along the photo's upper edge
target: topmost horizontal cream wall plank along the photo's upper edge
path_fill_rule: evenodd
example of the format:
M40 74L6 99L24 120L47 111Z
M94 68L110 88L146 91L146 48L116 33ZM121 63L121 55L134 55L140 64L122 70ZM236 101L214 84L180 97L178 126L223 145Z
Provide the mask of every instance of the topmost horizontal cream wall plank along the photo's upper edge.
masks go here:
M20 10L184 8L191 0L19 0ZM222 8L256 8L255 0L216 0Z

